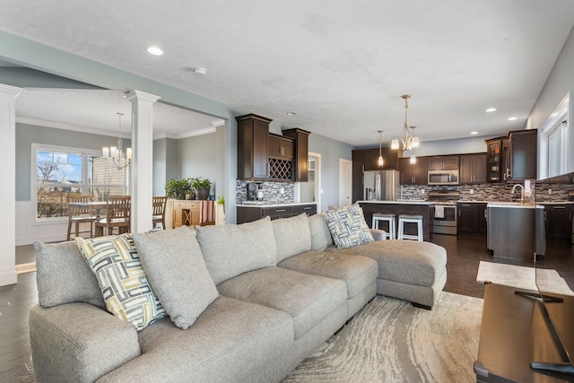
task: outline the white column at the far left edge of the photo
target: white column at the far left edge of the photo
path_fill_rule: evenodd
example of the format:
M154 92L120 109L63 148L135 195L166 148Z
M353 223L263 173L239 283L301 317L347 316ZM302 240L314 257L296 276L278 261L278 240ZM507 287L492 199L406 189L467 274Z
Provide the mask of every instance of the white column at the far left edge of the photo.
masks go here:
M0 220L0 286L18 282L16 274L16 97L22 88L0 84L0 168L2 220Z

